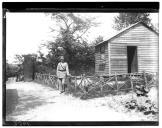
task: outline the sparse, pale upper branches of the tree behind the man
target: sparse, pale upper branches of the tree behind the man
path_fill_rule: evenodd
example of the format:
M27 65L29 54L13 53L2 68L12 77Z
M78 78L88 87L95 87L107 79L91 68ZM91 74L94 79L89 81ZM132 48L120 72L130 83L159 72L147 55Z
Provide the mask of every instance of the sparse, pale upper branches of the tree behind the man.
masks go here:
M60 36L73 37L75 41L84 40L84 34L98 23L94 22L94 17L85 18L74 13L52 13L51 18L56 21L57 28L51 28L52 31L57 31Z

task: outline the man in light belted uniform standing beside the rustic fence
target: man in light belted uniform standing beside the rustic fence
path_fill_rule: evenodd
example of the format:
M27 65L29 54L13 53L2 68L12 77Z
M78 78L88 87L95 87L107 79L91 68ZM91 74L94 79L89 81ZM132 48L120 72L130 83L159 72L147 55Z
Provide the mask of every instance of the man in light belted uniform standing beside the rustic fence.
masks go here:
M60 61L57 65L56 75L58 77L58 85L60 93L65 92L65 80L69 76L68 64L64 62L64 56L60 57Z

